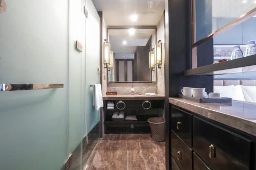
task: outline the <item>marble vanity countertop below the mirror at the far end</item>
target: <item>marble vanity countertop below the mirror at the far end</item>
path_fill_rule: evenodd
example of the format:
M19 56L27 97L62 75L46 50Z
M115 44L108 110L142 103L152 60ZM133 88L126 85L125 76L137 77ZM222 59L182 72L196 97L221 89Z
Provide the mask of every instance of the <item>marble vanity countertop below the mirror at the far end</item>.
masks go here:
M156 95L144 95L144 94L116 94L116 95L104 95L103 100L164 100L165 96Z

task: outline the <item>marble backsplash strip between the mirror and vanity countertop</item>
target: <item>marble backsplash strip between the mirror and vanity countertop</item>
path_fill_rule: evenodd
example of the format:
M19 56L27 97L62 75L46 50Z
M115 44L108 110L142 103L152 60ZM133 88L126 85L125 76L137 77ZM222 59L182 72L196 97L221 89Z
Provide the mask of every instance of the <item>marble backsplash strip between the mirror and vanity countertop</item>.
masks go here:
M134 88L135 94L146 92L157 93L156 83L108 83L108 91L117 91L117 94L131 94L131 88ZM104 95L104 94L103 94Z

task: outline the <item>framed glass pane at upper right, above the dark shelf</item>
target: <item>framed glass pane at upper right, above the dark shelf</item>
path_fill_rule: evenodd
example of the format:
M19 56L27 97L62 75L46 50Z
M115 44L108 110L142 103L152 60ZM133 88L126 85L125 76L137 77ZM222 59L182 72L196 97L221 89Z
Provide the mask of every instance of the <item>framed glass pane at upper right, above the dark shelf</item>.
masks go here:
M194 43L255 7L255 0L194 0Z

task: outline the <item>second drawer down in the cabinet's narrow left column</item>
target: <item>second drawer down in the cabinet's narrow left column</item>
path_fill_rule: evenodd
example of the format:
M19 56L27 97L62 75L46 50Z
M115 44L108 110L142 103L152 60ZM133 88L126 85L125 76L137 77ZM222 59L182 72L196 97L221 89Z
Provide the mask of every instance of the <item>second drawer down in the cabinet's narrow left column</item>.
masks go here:
M172 131L172 155L180 169L192 169L192 150Z

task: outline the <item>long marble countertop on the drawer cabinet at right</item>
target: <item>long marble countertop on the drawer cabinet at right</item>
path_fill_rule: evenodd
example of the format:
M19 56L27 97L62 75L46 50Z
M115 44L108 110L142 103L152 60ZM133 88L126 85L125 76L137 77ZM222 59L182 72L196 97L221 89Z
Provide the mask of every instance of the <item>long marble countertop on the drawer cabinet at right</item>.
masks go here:
M256 103L198 103L180 98L169 98L169 103L256 136Z

